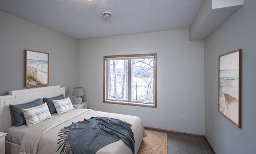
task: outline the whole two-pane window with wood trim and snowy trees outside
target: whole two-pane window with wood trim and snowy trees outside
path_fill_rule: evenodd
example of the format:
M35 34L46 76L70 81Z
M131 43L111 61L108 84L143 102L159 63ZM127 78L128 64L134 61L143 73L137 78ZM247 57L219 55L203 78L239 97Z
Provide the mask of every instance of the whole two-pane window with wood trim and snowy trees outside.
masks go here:
M156 55L104 56L103 102L156 107Z

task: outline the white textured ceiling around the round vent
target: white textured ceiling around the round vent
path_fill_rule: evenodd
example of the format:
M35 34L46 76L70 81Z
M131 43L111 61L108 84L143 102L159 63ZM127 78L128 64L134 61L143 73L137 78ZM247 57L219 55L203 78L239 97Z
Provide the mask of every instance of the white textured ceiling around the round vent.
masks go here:
M0 10L76 39L189 28L203 0L0 0ZM103 18L103 11L112 12Z

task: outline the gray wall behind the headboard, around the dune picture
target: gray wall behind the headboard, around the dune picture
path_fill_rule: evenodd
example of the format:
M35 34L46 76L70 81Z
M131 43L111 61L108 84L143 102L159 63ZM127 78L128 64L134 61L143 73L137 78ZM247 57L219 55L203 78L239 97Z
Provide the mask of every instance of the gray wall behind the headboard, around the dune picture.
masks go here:
M25 50L49 53L49 86L77 86L78 40L0 11L0 96L25 89ZM40 87L40 86L37 86Z

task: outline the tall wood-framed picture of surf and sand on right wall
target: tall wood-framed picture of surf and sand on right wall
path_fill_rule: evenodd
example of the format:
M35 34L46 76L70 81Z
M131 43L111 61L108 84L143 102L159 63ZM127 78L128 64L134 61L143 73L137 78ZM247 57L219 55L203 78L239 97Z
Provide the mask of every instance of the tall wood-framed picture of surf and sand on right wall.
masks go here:
M241 49L219 56L218 111L241 127Z

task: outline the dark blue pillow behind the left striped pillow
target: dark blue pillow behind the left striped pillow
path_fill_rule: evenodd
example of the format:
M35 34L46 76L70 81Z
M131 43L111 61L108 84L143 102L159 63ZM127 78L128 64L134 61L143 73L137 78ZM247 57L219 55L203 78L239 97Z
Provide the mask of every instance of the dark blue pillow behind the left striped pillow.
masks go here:
M10 104L10 109L12 111L12 115L13 115L14 121L15 121L15 127L19 127L26 123L24 115L22 113L22 108L27 109L27 108L35 107L38 105L42 105L42 101L40 98L35 101L31 101L31 102L24 103L24 104L18 104L18 105Z

